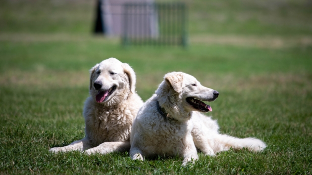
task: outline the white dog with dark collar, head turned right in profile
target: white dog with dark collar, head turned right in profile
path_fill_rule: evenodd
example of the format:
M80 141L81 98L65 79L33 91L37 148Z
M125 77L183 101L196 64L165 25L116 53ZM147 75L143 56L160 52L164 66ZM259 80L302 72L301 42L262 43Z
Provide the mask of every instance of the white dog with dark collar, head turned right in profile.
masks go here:
M246 147L264 149L256 138L235 138L218 133L218 125L200 112L212 111L202 101L213 101L219 93L200 84L193 76L172 72L164 76L155 94L139 110L133 122L130 143L132 159L144 160L155 154L178 155L183 165L198 159L197 149L215 153Z

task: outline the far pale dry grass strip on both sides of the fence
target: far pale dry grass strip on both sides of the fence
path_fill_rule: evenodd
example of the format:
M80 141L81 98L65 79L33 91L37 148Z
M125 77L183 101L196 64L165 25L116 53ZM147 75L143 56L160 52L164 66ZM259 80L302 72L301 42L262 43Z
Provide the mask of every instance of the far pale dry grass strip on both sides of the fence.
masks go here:
M190 44L221 44L234 46L252 46L259 48L310 47L312 36L276 37L276 36L238 36L238 35L190 35ZM4 42L100 42L119 44L119 38L109 38L103 35L77 34L30 34L1 33L0 41Z

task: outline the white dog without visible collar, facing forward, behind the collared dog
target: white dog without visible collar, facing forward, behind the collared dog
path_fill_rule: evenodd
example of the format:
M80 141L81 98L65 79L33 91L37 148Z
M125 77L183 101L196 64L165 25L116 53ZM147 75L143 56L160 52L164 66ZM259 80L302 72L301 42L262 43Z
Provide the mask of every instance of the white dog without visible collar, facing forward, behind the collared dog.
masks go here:
M109 58L90 70L90 96L83 110L86 137L50 151L106 154L130 149L130 131L143 101L135 92L136 77L126 63Z

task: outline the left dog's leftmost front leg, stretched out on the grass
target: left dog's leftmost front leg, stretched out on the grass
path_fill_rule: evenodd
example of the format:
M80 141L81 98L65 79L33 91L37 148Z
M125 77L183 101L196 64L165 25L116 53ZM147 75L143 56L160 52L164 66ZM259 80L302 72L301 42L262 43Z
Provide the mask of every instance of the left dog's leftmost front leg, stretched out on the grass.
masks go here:
M74 150L84 151L84 150L89 149L91 147L92 147L92 145L91 145L89 139L85 137L81 140L74 141L67 146L51 148L49 151L55 152L55 153L59 152L59 151L62 151L62 152L74 151Z

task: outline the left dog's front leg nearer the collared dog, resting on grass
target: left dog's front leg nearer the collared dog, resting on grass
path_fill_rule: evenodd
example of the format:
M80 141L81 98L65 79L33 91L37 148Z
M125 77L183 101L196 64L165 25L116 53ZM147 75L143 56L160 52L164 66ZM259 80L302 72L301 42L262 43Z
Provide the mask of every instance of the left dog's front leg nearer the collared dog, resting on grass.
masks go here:
M100 153L100 154L108 154L111 152L125 152L130 150L130 142L104 142L97 147L86 150L87 154L92 153Z

